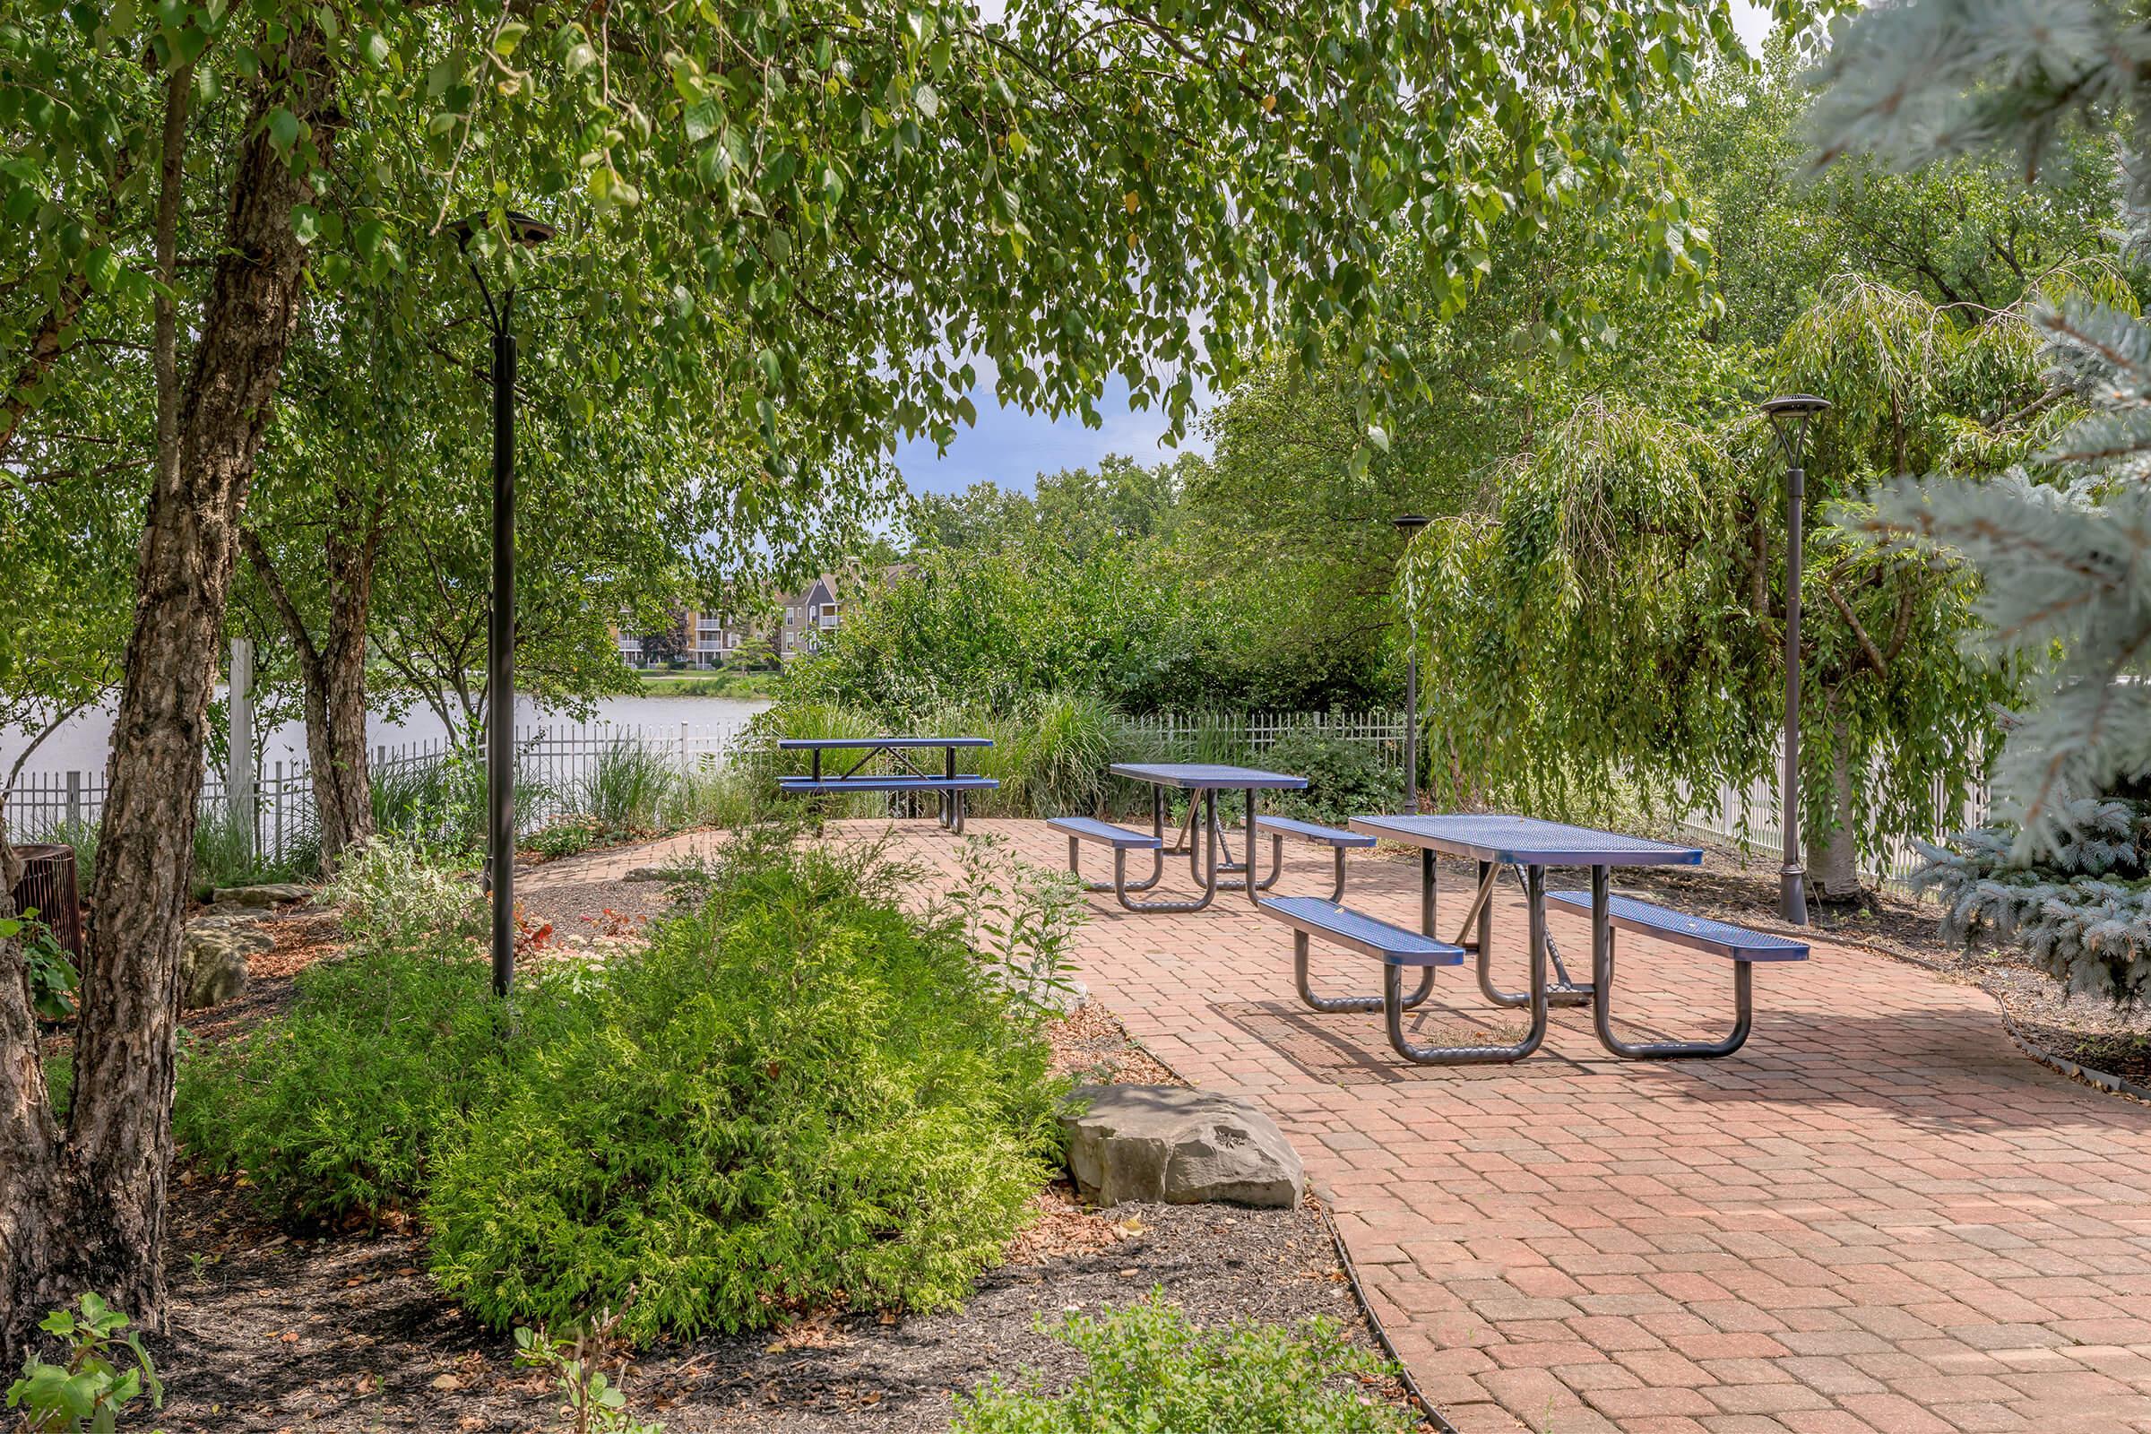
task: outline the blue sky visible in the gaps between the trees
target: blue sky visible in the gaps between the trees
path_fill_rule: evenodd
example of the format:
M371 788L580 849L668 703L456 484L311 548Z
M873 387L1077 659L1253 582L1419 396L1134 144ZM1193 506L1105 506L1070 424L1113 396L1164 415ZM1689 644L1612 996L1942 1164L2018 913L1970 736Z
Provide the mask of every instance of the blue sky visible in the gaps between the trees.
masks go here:
M1753 49L1762 45L1770 30L1770 13L1749 0L1734 0L1734 26L1740 39ZM1084 428L1078 417L1048 419L1045 415L1002 408L994 402L992 370L981 372L979 387L970 391L979 406L974 428L957 428L949 451L936 454L929 439L914 439L897 447L897 469L912 492L961 492L979 482L996 482L1002 488L1028 492L1039 473L1060 469L1088 469L1106 454L1121 454L1138 462L1166 462L1174 449L1159 447L1157 436L1166 430L1166 419L1157 411L1134 413L1127 406L1127 383L1114 378L1099 400L1103 426ZM1179 451L1207 454L1209 443L1200 430L1181 441Z

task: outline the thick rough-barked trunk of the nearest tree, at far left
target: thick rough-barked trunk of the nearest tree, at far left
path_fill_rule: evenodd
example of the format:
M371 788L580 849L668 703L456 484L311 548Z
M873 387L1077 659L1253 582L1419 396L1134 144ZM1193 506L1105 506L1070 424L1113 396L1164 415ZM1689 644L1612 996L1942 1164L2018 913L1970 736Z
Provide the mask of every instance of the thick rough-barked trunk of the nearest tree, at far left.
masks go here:
M290 213L312 191L269 142L267 116L275 105L310 125L314 146L327 153L336 116L312 24L267 67L254 97L185 387L172 393L176 385L159 372L159 406L170 406L159 413L163 451L142 527L133 634L112 725L65 1142L39 1079L19 948L0 950L6 1359L19 1357L45 1309L86 1288L148 1329L163 1329L179 937L194 864L204 718L234 525L303 301L305 249ZM168 191L179 170L172 148L168 142ZM159 355L161 368L170 365L170 353L166 346Z

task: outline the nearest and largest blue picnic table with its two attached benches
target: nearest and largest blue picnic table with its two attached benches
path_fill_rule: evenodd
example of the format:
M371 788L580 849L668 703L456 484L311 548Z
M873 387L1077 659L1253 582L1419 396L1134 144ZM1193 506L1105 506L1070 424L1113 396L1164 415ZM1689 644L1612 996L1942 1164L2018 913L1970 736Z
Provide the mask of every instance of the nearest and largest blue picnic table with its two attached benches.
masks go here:
M1445 815L1445 817L1353 817L1351 830L1420 849L1420 931L1396 927L1336 901L1282 899L1258 903L1263 912L1293 929L1293 957L1301 1000L1314 1010L1374 1010L1387 1017L1390 1045L1418 1064L1482 1064L1523 1060L1547 1038L1553 1004L1592 1006L1598 1041L1615 1056L1667 1060L1682 1056L1729 1056L1740 1049L1753 1023L1753 963L1803 961L1807 946L1790 937L1744 931L1727 922L1684 916L1609 890L1613 866L1693 866L1704 860L1695 847L1678 847L1620 832L1538 821L1534 817ZM1478 886L1454 942L1437 935L1437 856L1478 862ZM1514 869L1527 912L1529 989L1501 991L1493 983L1493 890L1501 869ZM1547 866L1587 866L1590 892L1547 892ZM1566 970L1549 983L1549 957L1559 955L1547 935L1547 903L1590 914L1592 978L1572 980ZM1473 931L1476 927L1476 931ZM1721 1041L1630 1043L1613 1030L1613 931L1639 931L1693 950L1721 955L1734 963L1734 1028ZM1381 998L1319 998L1308 985L1308 940L1370 955L1383 963ZM1476 957L1478 985L1486 1000L1508 1008L1529 1008L1532 1026L1512 1045L1415 1045L1405 1036L1402 1013L1420 1004L1433 987L1437 965L1463 965ZM1402 991L1402 967L1422 967L1411 998Z

